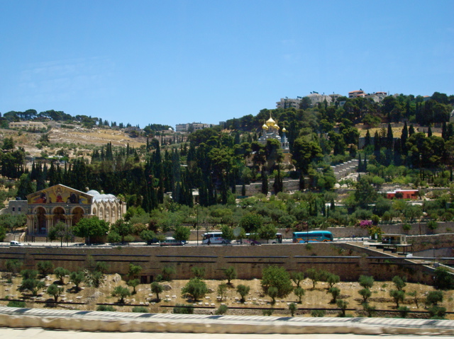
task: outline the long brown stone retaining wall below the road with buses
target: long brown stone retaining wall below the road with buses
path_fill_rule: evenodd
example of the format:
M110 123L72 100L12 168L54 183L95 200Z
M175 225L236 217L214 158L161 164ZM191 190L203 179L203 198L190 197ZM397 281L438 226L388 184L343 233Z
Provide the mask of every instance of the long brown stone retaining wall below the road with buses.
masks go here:
M385 259L367 258L385 257ZM55 267L74 271L90 268L94 261L109 264L110 272L125 275L129 264L142 266L142 282L152 281L171 265L177 279L192 277L194 266L203 266L206 279L223 279L223 269L233 266L240 279L260 279L262 269L279 265L289 272L321 268L335 273L344 281L357 281L360 275L373 275L376 280L389 280L399 272L406 272L410 282L431 283L431 268L406 261L392 264L394 257L348 243L314 243L310 246L299 243L269 244L262 246L134 246L117 248L2 248L0 268L5 269L6 260L20 259L23 268L35 269L38 261L50 260ZM384 269L384 265L386 268ZM400 274L399 273L399 274Z

